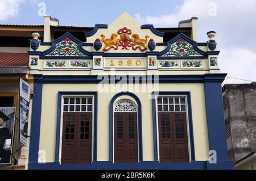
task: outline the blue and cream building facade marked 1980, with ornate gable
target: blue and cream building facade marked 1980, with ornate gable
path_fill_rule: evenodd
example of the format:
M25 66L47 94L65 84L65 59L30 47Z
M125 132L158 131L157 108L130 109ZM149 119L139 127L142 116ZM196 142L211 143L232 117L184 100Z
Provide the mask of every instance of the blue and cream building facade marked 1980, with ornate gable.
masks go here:
M232 169L215 32L193 31L164 42L125 12L86 42L34 32L28 169Z

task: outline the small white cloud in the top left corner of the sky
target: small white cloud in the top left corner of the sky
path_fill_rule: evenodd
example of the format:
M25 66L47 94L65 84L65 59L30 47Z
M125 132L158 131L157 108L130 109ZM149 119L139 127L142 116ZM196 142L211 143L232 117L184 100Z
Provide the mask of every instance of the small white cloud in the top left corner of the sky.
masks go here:
M7 20L19 14L19 6L26 0L1 0L0 20Z

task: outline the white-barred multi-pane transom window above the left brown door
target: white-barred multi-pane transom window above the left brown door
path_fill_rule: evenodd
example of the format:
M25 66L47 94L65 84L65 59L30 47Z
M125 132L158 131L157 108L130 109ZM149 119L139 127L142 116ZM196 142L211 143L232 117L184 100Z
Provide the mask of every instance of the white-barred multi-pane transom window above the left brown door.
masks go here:
M93 98L64 98L64 112L92 112Z

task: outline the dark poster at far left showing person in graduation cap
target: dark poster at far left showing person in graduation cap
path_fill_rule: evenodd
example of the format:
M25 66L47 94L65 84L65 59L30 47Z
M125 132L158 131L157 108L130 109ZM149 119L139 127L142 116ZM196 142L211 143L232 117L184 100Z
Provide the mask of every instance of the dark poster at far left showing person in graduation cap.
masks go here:
M11 163L15 107L0 107L0 164Z

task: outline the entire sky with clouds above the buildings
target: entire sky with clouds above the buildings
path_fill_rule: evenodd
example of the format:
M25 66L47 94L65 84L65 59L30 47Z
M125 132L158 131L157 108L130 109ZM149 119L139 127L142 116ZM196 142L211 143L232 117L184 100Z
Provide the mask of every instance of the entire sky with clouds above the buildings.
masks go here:
M256 0L0 0L0 24L43 24L42 15L49 14L61 26L94 27L124 11L154 27L177 27L196 16L199 42L216 31L219 67L228 73L224 83L256 82Z

